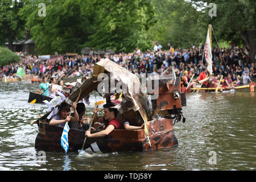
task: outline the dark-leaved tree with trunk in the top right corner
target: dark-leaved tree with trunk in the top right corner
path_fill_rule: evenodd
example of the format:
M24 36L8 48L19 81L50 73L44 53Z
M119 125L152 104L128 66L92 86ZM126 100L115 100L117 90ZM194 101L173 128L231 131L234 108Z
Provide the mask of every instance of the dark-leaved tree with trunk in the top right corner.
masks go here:
M218 38L233 40L240 44L247 44L250 52L250 61L255 63L256 55L256 1L254 0L198 0L195 2L215 3L217 16L210 18L208 12L211 7L205 6L201 21L212 24Z

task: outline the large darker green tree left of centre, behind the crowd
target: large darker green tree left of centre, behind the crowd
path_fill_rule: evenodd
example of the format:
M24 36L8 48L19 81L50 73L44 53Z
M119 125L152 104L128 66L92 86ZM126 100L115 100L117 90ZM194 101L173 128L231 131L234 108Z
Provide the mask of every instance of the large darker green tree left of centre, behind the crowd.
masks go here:
M46 16L39 16L42 2L46 5ZM80 52L91 30L91 4L89 0L34 0L19 14L26 20L26 29L30 30L38 53Z

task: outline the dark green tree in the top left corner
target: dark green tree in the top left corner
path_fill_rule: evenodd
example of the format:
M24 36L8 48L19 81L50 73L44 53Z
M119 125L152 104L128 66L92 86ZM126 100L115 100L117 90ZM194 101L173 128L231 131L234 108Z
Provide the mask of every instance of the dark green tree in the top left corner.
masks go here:
M18 15L19 10L27 3L22 0L0 0L0 43L6 40L13 51L13 42L24 35L24 20Z

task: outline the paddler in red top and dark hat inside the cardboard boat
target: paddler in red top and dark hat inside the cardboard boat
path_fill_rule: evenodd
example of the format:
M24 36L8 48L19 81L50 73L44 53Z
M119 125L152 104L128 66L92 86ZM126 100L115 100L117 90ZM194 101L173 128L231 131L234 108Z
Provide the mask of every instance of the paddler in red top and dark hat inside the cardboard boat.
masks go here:
M97 133L90 133L90 129L85 131L86 137L105 137L106 135L109 135L114 129L120 129L120 121L117 118L117 112L118 110L113 108L115 106L112 103L105 104L104 107L104 117L98 117L97 112L98 109L94 108L93 113L95 113L95 122L104 123L106 129L101 130Z

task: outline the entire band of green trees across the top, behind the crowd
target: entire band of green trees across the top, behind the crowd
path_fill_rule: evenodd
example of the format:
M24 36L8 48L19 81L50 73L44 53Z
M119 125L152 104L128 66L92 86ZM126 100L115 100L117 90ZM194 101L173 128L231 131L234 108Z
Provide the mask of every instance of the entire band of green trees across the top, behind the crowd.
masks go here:
M45 16L39 15L40 3ZM217 5L217 16L209 16L210 3ZM79 53L84 47L146 51L153 42L190 48L205 42L212 24L219 42L246 43L254 61L255 5L254 0L0 0L0 44L27 30L39 54Z

